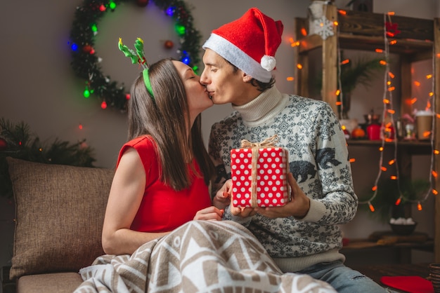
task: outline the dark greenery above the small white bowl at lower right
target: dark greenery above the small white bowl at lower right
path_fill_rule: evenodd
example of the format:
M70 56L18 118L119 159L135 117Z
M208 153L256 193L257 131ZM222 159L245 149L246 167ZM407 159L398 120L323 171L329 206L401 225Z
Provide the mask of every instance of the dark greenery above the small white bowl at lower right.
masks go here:
M383 223L389 223L391 218L408 218L410 217L410 205L417 202L418 198L422 197L422 193L426 193L430 188L431 184L423 179L381 179L377 184L377 195L371 200L375 211L370 212L368 205L359 205L359 207ZM367 193L369 194L362 197L371 198L373 196L373 191ZM362 197L360 196L360 201L363 200ZM399 199L400 203L396 205Z

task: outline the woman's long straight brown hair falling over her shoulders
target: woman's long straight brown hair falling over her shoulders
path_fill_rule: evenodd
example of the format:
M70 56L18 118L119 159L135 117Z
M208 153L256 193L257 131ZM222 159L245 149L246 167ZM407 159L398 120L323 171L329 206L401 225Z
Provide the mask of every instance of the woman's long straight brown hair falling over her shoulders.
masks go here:
M141 135L153 137L162 166L161 180L174 190L185 189L192 182L186 165L188 155L195 157L208 185L214 165L203 143L202 117L199 114L195 118L188 138L188 100L176 67L171 59L162 59L151 64L148 73L154 99L148 95L140 74L131 86L128 139Z

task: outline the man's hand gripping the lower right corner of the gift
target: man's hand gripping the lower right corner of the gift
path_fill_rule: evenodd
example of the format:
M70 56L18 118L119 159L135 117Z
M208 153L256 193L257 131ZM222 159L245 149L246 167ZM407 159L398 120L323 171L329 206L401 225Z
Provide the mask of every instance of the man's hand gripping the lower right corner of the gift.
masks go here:
M292 189L292 200L289 203L282 207L256 207L255 211L271 219L291 216L297 219L306 217L310 209L310 198L299 187L292 173L287 175L287 181Z

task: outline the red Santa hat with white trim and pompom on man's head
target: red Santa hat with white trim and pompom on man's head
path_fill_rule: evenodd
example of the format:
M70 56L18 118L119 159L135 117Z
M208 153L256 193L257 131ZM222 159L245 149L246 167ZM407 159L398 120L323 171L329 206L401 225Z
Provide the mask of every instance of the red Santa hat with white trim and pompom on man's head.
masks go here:
M275 53L281 43L283 23L250 8L241 18L214 29L203 48L245 71L257 81L267 83L275 68Z

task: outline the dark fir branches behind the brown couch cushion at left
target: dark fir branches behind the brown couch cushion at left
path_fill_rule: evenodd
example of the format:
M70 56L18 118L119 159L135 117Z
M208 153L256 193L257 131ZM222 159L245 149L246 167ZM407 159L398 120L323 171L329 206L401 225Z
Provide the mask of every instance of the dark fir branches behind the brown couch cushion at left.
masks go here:
M39 137L32 135L30 126L21 121L13 124L0 118L0 196L12 198L12 182L9 178L6 157L20 158L26 161L94 167L93 149L85 141L71 144L55 139L43 143Z

